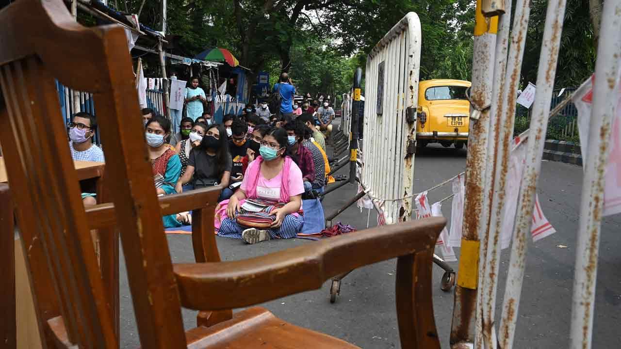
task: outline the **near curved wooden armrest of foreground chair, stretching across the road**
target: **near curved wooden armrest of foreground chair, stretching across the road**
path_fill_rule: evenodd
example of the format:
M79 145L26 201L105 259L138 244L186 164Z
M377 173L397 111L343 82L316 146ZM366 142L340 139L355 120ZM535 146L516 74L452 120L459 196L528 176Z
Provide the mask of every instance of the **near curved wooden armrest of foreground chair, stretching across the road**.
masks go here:
M348 233L247 260L176 264L173 270L184 307L246 307L319 289L325 280L361 266L419 252L432 254L445 224L446 219L431 217Z

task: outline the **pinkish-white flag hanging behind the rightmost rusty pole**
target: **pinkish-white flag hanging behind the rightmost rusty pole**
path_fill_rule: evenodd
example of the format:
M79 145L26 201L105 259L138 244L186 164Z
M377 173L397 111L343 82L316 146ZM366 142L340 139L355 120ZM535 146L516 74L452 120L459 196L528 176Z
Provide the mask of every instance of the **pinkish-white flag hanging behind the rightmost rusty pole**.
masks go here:
M587 79L572 97L578 109L578 134L580 135L582 163L586 163L586 158L589 156L589 127L591 126L594 79L594 75ZM604 179L604 216L621 212L621 91L617 91L617 107L612 118L608 152Z

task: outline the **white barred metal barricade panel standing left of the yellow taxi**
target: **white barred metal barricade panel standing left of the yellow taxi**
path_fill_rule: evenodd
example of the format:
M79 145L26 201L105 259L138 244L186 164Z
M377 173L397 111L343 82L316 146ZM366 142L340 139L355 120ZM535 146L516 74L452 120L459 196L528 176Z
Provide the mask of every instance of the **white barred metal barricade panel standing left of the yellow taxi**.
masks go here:
M420 40L419 17L409 12L366 61L361 183L383 210L386 224L412 215Z

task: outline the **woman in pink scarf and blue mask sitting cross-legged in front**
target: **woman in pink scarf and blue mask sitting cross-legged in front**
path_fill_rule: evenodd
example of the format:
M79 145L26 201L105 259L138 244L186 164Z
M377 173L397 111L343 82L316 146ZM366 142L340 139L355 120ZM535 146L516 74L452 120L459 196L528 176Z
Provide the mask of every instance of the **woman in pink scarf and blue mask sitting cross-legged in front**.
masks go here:
M273 238L293 238L302 229L302 171L289 156L287 132L274 128L261 141L260 156L248 165L240 190L230 198L227 218L222 220L218 235L241 238L257 243ZM268 229L244 227L237 222L246 199L258 199L270 205L265 211L273 216ZM244 209L245 210L245 209Z

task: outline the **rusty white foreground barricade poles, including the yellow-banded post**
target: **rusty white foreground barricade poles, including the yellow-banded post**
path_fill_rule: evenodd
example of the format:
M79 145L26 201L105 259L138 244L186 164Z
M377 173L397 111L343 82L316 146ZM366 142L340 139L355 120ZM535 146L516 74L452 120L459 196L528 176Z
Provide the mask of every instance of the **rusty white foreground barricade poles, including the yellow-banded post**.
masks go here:
M524 147L524 173L520 178L501 322L496 327L497 315L494 312L501 274L501 230L505 223L503 210L507 199L505 190L530 1L517 0L513 7L513 19L510 17L512 3L504 1L500 4L504 6L501 10L496 7L499 4L485 0L482 3L479 0L476 9L478 18L475 25L473 88L470 94L472 121L468 140L465 202L465 211L475 214L465 217L463 222L460 275L450 338L452 348L513 347L524 281L527 237L533 234L533 209L537 202L535 195L545 133L550 115L558 112L556 109L550 112L550 104L566 0L548 2L530 129L528 134L518 137L527 137L524 145L519 146ZM496 15L497 34L496 30L490 30ZM513 24L510 40L509 23ZM484 30L477 30L477 27ZM615 108L621 107L621 0L604 2L599 32L601 37L592 83L592 111L587 142L588 149L592 151L586 154L584 163L574 269L569 347L575 349L591 348L608 143L612 119L619 114ZM483 145L484 148L479 148ZM473 260L471 255L477 250L478 258ZM475 314L476 320L473 320Z

